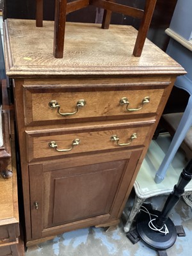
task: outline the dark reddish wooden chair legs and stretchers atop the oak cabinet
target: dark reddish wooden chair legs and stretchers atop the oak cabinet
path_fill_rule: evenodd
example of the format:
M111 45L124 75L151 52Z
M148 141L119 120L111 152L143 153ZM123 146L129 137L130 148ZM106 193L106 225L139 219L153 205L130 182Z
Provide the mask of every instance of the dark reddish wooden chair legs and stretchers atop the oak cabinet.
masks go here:
M43 17L43 0L36 2L36 26L42 26ZM105 10L102 28L109 28L109 22L111 20L111 12L123 13L134 18L142 19L140 29L138 32L136 44L134 45L134 56L141 56L143 51L143 45L147 36L152 14L156 5L156 0L146 0L145 10L138 8L132 8L122 4L113 3L113 1L106 0L76 0L72 3L67 3L67 0L55 1L55 13L54 13L54 49L53 55L55 58L63 58L64 38L65 38L65 21L68 12L74 12L80 10L89 4L93 4L98 8ZM67 7L70 7L67 8Z

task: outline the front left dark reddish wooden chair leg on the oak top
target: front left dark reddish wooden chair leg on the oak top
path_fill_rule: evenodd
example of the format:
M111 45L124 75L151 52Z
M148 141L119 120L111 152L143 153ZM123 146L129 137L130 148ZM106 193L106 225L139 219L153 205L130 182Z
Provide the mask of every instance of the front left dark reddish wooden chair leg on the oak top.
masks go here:
M67 0L55 1L54 13L54 48L55 58L63 58Z

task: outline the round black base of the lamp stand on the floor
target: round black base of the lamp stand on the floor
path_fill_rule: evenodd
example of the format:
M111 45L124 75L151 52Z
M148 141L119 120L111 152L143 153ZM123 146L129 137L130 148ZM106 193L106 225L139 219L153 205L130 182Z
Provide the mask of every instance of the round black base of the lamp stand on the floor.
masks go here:
M152 210L150 214L155 214L159 216L161 214L160 211ZM152 216L152 219L156 218ZM146 212L141 211L140 216L138 216L137 220L137 230L141 239L147 243L148 246L155 250L166 250L173 246L177 239L177 230L173 221L168 218L166 220L166 227L169 230L168 234L163 234L157 231L152 230L148 227L148 222L150 221L149 215Z

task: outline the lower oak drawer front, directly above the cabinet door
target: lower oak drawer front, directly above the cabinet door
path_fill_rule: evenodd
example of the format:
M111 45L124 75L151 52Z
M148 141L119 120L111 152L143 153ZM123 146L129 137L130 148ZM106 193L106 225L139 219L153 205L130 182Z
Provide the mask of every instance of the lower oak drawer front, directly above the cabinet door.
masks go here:
M125 127L108 127L108 129L93 129L92 131L75 131L69 133L64 129L60 132L49 131L44 134L36 131L34 133L28 132L28 161L32 159L44 159L47 157L67 156L68 154L84 153L99 150L109 150L117 148L127 148L134 146L143 146L147 137L150 126L135 126ZM137 138L131 136L136 134ZM130 143L129 145L119 146L117 141L111 141L111 136L116 135L119 138L119 143ZM72 150L67 152L58 152L56 148L49 147L49 143L54 141L58 145L58 150L68 149L72 147L72 141L79 139L79 145L74 146Z

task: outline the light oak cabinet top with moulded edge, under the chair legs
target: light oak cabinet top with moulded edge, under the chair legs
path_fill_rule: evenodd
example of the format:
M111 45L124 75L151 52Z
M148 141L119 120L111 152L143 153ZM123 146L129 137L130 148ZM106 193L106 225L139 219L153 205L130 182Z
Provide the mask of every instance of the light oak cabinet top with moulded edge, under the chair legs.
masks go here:
M113 76L185 74L149 40L141 57L132 55L138 31L132 26L67 22L64 56L53 56L54 22L8 19L4 22L6 74L24 76Z

